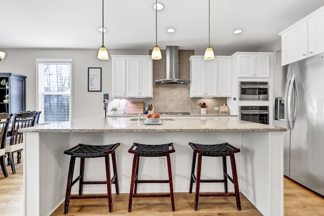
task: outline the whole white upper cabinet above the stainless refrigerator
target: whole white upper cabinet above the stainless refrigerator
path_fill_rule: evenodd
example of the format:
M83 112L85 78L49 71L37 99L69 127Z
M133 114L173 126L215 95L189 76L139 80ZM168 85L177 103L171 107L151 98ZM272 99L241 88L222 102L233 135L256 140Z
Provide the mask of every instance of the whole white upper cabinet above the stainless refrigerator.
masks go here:
M279 33L281 65L324 52L324 7Z

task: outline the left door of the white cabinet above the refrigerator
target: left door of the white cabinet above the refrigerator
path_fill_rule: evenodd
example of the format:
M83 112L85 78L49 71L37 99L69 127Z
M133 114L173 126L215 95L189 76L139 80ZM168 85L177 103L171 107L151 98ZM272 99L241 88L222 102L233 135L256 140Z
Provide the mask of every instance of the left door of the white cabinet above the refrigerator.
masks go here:
M281 65L306 58L307 51L307 22L281 35Z

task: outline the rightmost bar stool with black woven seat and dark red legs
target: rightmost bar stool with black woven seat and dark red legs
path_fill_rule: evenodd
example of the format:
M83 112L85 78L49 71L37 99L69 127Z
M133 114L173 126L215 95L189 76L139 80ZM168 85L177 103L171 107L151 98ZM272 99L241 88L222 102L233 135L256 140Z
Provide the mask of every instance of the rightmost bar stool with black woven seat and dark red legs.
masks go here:
M238 182L237 182L237 172L235 165L235 157L234 154L240 152L239 149L229 145L229 143L221 143L216 145L201 145L189 142L189 146L193 149L192 155L192 167L191 167L191 175L190 175L190 188L189 193L192 193L192 185L196 183L196 193L195 193L195 201L194 201L194 209L198 210L198 200L199 197L218 197L218 196L235 196L236 197L236 206L237 210L241 210L241 204L239 199L239 190L238 190ZM197 176L194 175L195 164L196 164L196 155L198 154L198 164L197 164ZM201 158L203 156L208 157L222 157L223 158L223 174L224 179L200 179L201 174ZM226 167L226 156L230 156L231 167L232 167L232 175L231 178L227 174ZM227 188L227 179L229 179L234 184L234 193L229 193ZM225 193L199 193L200 183L224 183Z

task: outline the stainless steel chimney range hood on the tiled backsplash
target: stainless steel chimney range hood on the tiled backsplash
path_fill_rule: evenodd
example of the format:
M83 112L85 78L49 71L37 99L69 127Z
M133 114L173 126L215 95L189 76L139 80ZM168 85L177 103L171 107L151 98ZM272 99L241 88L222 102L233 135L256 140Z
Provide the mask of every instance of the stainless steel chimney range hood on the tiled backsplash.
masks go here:
M188 84L190 80L179 79L178 46L166 48L166 79L155 80L155 84Z

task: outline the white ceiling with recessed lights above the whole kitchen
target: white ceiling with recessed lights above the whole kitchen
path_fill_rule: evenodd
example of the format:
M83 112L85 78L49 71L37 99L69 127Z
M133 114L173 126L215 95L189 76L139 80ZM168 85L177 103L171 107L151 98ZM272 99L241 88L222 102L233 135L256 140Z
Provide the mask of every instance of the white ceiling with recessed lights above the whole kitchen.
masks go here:
M157 44L161 49L205 50L208 0L159 0ZM104 45L109 49L152 49L154 0L105 0ZM324 0L211 0L211 46L256 51L277 33L324 5ZM98 49L101 0L0 0L0 48ZM173 27L174 33L167 29ZM233 34L233 30L244 31Z

